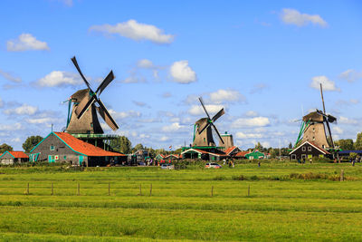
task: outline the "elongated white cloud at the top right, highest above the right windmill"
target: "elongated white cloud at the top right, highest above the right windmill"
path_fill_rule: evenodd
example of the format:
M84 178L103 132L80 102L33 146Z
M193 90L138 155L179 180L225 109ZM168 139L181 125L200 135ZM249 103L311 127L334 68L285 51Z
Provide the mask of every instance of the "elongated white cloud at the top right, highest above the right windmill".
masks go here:
M328 25L327 22L319 15L301 14L298 10L291 8L282 9L281 20L285 24L294 24L297 26L316 24L322 27L326 27Z

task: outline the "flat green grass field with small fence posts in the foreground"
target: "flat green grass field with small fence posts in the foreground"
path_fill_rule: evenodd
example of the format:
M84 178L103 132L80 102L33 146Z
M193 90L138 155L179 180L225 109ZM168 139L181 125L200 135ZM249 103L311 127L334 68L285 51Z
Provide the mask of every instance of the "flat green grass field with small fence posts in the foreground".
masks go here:
M359 163L0 168L5 241L356 241L361 235Z

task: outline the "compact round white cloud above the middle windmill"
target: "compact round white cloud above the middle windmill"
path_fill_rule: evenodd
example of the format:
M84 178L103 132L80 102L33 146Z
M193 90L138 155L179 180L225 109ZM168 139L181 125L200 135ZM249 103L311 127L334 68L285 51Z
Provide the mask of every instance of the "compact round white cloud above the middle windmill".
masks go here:
M188 61L173 63L170 67L170 74L173 82L188 84L197 81L196 73L188 66Z

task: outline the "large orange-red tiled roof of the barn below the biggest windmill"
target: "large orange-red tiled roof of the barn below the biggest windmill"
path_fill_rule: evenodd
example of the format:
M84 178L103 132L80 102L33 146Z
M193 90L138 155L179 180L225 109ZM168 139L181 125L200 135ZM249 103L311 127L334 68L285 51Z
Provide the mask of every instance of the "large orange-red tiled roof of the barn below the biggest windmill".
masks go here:
M126 156L124 154L100 149L99 147L73 137L67 132L54 132L54 134L69 145L72 150L80 152L86 156Z

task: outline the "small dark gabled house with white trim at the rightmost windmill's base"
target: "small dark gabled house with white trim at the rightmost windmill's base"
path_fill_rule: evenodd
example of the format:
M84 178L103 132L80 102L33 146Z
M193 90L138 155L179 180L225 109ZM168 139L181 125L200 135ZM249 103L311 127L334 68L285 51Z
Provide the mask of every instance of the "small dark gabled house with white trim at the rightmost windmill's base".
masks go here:
M307 160L313 157L323 158L330 155L330 153L310 141L305 141L294 150L291 150L289 155L291 160Z

